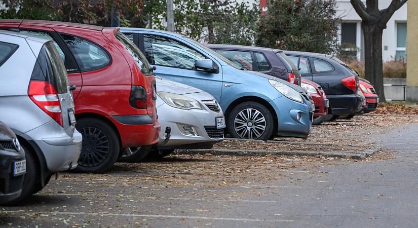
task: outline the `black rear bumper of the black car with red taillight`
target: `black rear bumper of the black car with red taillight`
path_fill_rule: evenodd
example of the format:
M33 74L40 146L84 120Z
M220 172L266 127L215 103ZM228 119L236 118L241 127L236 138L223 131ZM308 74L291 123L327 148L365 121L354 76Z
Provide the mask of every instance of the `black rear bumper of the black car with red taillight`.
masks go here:
M357 94L327 95L332 115L352 115L363 109L363 98Z

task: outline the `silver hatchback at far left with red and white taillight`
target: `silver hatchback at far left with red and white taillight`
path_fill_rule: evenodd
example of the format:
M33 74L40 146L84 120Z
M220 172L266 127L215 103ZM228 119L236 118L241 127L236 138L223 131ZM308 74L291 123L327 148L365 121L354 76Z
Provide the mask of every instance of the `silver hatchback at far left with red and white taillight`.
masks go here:
M77 167L82 135L70 90L52 41L0 31L0 120L26 153L22 194L13 202L41 191L54 173Z

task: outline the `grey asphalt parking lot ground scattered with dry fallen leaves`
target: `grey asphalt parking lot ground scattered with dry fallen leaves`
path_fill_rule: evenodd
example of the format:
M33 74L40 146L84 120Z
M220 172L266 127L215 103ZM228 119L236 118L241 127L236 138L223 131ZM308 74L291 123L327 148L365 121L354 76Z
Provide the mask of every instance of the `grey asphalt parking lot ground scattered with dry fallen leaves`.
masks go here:
M308 139L275 139L324 145L225 141L216 148L381 148L364 160L172 155L117 163L105 174L61 173L25 204L0 207L0 226L414 226L416 135L416 117L359 116L314 127Z

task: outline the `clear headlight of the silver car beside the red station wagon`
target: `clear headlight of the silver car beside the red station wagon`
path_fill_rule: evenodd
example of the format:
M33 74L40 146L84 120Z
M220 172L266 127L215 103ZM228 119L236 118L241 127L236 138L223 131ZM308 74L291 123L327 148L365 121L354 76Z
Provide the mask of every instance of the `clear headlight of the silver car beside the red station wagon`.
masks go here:
M202 109L199 101L183 95L167 92L157 92L158 96L168 105L180 109Z

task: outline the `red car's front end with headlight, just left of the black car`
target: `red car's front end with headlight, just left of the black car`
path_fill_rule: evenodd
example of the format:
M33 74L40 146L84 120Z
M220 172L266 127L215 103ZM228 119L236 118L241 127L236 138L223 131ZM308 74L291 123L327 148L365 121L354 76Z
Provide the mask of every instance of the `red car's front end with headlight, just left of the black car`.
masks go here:
M325 92L322 90L320 85L303 78L300 86L308 90L315 103L315 113L312 124L320 125L325 121L329 107L329 100L327 99Z

